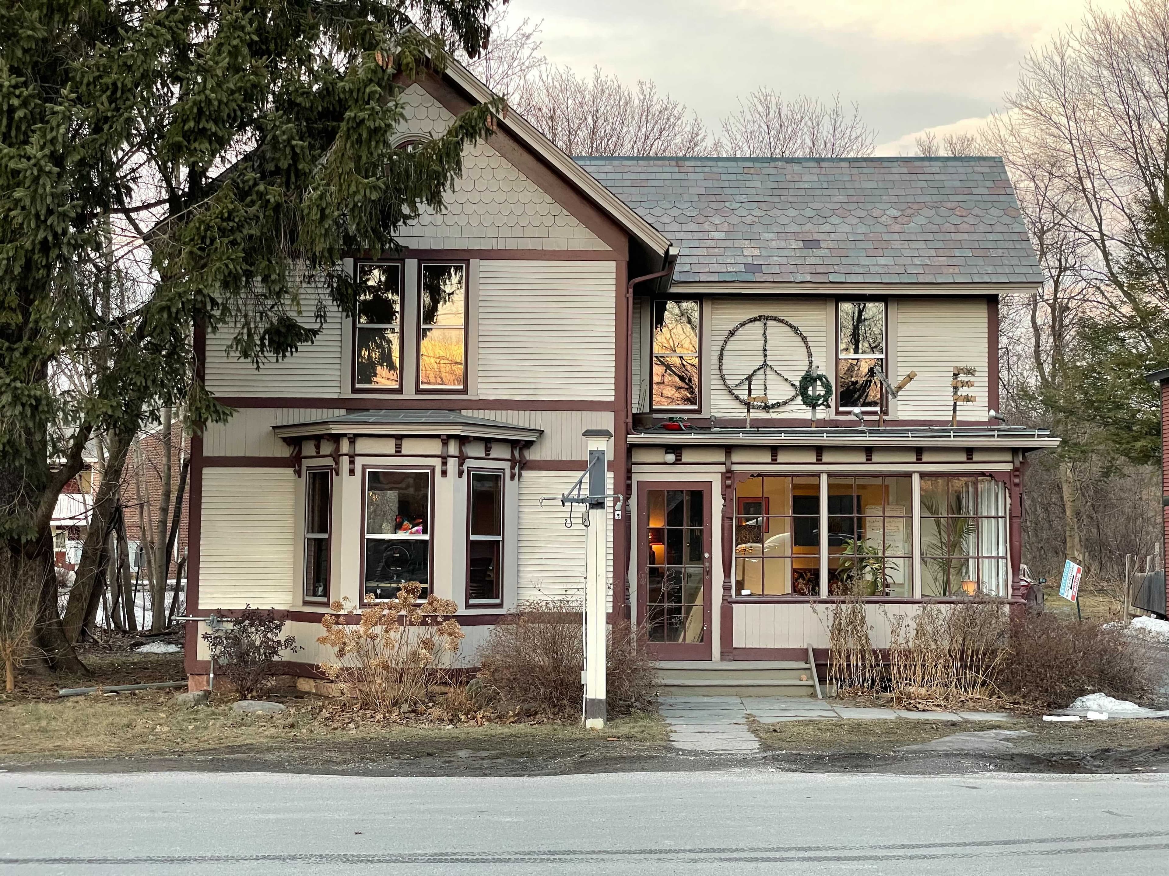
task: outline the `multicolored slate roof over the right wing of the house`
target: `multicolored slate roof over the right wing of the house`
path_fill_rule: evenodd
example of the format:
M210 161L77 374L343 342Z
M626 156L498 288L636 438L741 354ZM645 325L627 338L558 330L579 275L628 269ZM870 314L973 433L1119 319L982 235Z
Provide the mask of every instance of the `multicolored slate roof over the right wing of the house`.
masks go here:
M998 158L577 158L676 283L1040 283Z

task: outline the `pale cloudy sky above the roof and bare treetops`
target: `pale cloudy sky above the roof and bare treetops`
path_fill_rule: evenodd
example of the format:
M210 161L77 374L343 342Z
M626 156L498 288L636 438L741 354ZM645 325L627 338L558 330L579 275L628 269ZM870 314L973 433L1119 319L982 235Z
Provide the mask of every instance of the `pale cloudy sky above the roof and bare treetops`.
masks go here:
M1120 9L1125 0L1095 0ZM738 96L856 102L877 154L916 134L977 127L1018 64L1077 23L1085 0L511 0L509 23L542 20L548 60L627 83L652 79L712 128Z

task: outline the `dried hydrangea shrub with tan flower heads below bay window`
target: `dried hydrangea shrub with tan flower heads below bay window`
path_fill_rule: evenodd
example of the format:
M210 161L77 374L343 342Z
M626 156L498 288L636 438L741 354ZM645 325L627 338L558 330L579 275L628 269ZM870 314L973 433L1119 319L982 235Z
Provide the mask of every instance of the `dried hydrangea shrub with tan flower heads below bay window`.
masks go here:
M333 649L337 662L321 663L330 680L341 684L362 709L387 712L424 705L435 687L447 681L442 655L458 652L463 631L454 619L458 606L433 593L419 603L422 585L403 584L397 598L367 605L361 619L345 624L353 605L346 598L330 607L317 639Z

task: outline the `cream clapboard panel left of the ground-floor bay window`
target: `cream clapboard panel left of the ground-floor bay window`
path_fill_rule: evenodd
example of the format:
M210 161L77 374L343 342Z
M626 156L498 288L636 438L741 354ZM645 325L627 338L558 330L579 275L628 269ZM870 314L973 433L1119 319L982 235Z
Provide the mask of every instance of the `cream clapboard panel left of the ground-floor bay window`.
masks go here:
M298 484L291 468L203 471L199 607L293 604Z

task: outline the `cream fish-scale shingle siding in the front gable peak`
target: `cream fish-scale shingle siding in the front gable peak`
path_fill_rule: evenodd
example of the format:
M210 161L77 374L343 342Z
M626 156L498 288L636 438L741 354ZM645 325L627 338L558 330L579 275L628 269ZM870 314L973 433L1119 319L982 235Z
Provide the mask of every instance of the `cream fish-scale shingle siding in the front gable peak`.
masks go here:
M437 137L455 117L417 84L402 92L401 131ZM444 195L445 209L421 208L399 243L423 249L608 250L568 210L520 173L490 140L466 146L463 175Z

